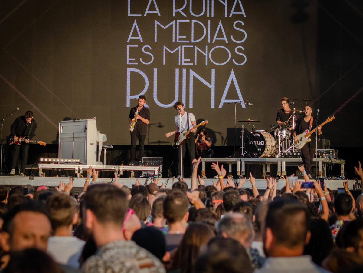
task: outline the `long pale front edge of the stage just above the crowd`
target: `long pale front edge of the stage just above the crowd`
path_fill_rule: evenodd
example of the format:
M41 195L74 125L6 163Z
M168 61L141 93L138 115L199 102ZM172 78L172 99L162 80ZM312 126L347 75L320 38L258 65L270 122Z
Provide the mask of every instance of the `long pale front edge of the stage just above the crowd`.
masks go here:
M74 182L73 182L73 186L75 188L83 188L83 185L85 184L85 178L74 178ZM163 182L164 184L167 182L168 178L160 178L160 182L159 182L159 186L161 185L161 182ZM34 179L29 179L29 177L19 177L19 176L0 176L0 185L4 185L4 186L22 186L25 184L30 184L33 186L40 186L40 185L46 185L46 186L50 186L50 187L54 187L54 186L58 186L58 182L59 181L63 181L64 183L68 183L69 182L69 178L68 177L37 177L35 176ZM123 181L125 183L126 186L128 187L132 187L132 185L135 184L135 178L119 178L118 181ZM141 185L144 184L149 184L151 183L151 179L146 179L146 178L140 178L141 181ZM168 184L167 184L167 188L170 188L170 186L175 183L176 181L178 181L177 179L173 179L170 178L168 180ZM191 188L191 179L185 179L185 181L187 182L187 185L189 187L189 189ZM204 179L204 184L206 186L208 185L212 185L212 181L216 181L217 179ZM234 182L238 183L238 179L234 179ZM338 188L343 188L343 181L344 180L325 180L327 187L332 189L332 190L336 190ZM357 180L348 180L348 186L349 189L354 189L353 185L356 184ZM97 183L112 183L113 179L112 178L98 178ZM360 184L360 181L359 181ZM286 185L286 182L284 179L280 179L277 181L277 189L281 189L282 187L284 187ZM264 179L256 179L256 187L259 190L263 190L266 189L266 181ZM242 188L252 188L249 181L246 180L245 183L243 184ZM360 188L358 188L360 189Z

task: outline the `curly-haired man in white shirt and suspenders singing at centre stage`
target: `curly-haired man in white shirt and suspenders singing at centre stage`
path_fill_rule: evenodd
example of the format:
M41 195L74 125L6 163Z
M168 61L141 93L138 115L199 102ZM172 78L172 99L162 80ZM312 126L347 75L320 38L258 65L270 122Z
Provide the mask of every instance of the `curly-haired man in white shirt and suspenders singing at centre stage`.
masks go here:
M177 172L178 175L181 174L181 166L180 166L180 160L184 161L185 158L185 150L187 150L188 153L188 164L190 164L191 166L191 170L192 170L192 160L195 158L195 140L194 140L194 132L195 129L193 129L193 127L197 126L197 123L195 121L195 117L192 113L188 113L184 111L184 104L180 101L177 101L174 104L174 108L176 111L178 111L178 115L176 115L174 117L174 121L175 121L175 125L176 125L176 130L172 131L172 132L168 132L165 134L166 137L170 137L172 135L175 135L178 132L182 132L185 128L187 128L188 130L190 129L189 135L188 135L188 139L186 139L183 144L178 146L178 153L180 153L180 148L181 148L181 153L182 153L182 158L180 158L179 156L177 156ZM191 175L191 174L190 174ZM188 177L188 176L185 176Z

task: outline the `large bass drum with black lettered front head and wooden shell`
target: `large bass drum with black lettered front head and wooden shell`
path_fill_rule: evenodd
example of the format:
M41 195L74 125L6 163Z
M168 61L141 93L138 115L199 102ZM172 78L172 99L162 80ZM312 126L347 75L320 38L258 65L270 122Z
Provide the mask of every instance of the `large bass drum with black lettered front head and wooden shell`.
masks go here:
M253 132L252 139L248 138L247 146L251 157L273 157L276 153L275 139L268 132Z

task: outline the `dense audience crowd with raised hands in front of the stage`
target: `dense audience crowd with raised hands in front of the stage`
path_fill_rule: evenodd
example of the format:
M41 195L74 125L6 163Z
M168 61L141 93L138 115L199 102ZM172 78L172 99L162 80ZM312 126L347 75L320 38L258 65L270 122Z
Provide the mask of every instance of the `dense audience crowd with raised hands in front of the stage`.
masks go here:
M98 183L91 167L83 191L73 180L47 186L0 186L0 272L363 272L363 194L303 180L277 189L266 178L235 182L218 162L213 185L191 189L154 180L130 189L115 174ZM363 181L363 169L355 167ZM261 194L260 194L261 193Z

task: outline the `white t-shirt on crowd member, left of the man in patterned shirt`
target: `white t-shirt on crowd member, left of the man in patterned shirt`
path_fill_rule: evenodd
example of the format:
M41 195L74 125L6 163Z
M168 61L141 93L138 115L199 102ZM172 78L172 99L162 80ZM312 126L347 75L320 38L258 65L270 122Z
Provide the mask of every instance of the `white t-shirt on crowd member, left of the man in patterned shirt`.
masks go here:
M79 268L79 256L85 241L75 236L50 236L46 252L54 261Z

